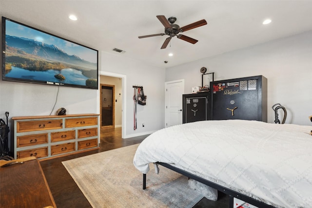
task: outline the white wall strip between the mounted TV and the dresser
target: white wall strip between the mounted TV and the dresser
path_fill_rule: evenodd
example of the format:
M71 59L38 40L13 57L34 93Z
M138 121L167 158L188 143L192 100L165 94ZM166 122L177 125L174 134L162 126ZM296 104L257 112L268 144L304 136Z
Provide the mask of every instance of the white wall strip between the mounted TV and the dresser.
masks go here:
M54 115L61 107L67 110L66 114L98 113L97 95L97 90L1 80L0 117L6 111L10 113L10 117L49 115L51 112Z

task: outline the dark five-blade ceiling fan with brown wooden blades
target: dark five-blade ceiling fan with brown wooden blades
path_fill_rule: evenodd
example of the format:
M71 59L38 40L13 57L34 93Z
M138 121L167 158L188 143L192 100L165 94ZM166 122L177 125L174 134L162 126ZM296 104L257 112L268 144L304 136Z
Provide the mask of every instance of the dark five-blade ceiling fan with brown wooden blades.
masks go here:
M138 38L149 38L149 37L164 36L164 35L170 36L169 38L166 38L165 42L162 44L160 49L166 48L168 43L170 42L171 38L173 38L175 36L177 38L179 38L179 39L182 39L182 40L185 40L187 42L195 44L198 40L195 40L193 38L181 35L179 33L182 33L182 32L185 32L187 30L191 30L191 29L194 29L196 27L200 27L200 26L203 26L203 25L207 24L206 20L202 19L202 20L196 21L196 22L194 22L192 24L188 24L188 25L186 25L184 27L180 27L179 25L174 24L176 22L176 18L175 17L170 17L170 18L168 18L168 20L163 15L158 15L156 17L165 26L165 33L160 33L160 34L155 34L155 35L148 35L148 36L139 36Z

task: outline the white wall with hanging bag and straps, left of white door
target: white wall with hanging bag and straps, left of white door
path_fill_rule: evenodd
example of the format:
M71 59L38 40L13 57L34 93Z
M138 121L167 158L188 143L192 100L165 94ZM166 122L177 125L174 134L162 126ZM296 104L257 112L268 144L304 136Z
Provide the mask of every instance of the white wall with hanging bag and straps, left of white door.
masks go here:
M117 53L117 52L116 52ZM165 69L149 66L122 54L101 53L101 71L125 75L126 136L133 137L155 132L165 127ZM146 105L137 105L137 130L134 130L134 88L143 86ZM142 123L145 127L142 127Z

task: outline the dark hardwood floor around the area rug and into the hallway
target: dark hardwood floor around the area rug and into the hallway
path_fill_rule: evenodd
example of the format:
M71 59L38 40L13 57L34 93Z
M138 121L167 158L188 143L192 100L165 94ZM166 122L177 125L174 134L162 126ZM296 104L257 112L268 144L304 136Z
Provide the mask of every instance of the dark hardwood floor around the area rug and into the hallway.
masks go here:
M95 154L101 151L113 150L140 143L146 136L122 139L121 128L101 130L98 150L86 151L50 160L40 161L40 165L51 189L58 208L91 208L77 184L62 165L62 161ZM105 206L105 205L103 205ZM219 193L218 201L202 199L194 208L228 208L228 197Z

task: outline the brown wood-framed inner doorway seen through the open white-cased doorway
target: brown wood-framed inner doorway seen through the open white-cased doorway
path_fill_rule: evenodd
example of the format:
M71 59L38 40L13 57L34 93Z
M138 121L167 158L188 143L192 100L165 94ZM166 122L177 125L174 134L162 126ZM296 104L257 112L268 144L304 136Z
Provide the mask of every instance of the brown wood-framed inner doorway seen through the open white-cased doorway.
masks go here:
M101 128L115 128L115 86L101 84L100 89Z

